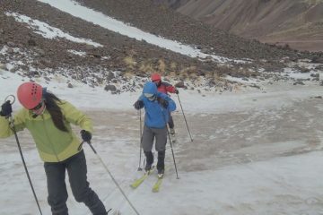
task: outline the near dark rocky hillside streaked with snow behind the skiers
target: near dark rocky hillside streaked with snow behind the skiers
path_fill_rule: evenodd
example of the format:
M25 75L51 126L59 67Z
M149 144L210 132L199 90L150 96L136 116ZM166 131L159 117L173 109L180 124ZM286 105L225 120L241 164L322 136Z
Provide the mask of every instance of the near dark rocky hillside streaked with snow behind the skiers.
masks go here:
M62 4L63 8L52 4ZM83 18L64 11L74 6L91 14ZM104 23L112 17L127 25L110 30L104 23L88 20L96 16L107 19ZM188 88L183 82L190 81L205 89L231 90L236 82L225 79L226 75L266 80L280 74L260 72L281 73L289 63L303 58L323 61L320 54L242 39L151 0L3 0L0 26L0 64L4 69L31 80L45 77L50 81L59 74L92 87L106 85L116 93L140 89L143 77L154 72L170 76L181 87ZM151 35L135 39L119 32L125 28ZM57 32L59 37L50 36ZM179 41L200 54L185 54L179 44L177 52L153 44L148 41L153 36L153 40L169 39L162 42L167 44ZM129 84L134 77L140 81ZM196 84L189 88L194 87Z

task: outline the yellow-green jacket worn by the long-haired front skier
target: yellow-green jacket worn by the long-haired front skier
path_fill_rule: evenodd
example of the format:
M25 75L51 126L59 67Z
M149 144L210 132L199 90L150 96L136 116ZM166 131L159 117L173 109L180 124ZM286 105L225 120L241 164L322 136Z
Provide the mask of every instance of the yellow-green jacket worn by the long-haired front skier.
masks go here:
M92 121L80 110L67 101L59 102L65 125L68 132L63 132L54 125L53 120L47 110L37 117L32 117L32 112L28 109L21 109L13 117L14 126L17 132L27 128L36 143L40 158L45 162L59 162L70 158L77 152L80 140L72 131L71 124L79 125L83 130L92 133ZM13 130L9 126L9 121L0 116L0 138L13 135Z

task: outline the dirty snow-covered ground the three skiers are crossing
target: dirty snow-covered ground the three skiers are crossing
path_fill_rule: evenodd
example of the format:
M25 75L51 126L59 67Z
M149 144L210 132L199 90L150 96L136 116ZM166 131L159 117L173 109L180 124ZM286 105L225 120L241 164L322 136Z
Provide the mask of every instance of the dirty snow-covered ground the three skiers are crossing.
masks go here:
M70 3L41 1L53 5ZM72 13L74 6L79 5L69 4L64 8ZM127 29L127 26L123 28ZM156 44L165 43L159 38L155 41ZM291 71L285 74L302 79L310 76L310 73ZM316 82L306 82L301 87L291 82L262 82L263 90L243 89L217 94L179 90L194 142L188 138L179 99L172 96L178 105L174 118L179 142L174 145L174 152L179 179L176 179L168 146L167 170L161 191L152 193L155 175L137 190L129 187L142 174L136 171L139 117L132 107L140 90L110 95L100 88L73 80L69 81L74 88L66 88L66 79L57 76L51 82L42 78L35 81L92 117L93 145L140 214L323 213L320 192L323 188L320 180L323 120L319 117L323 106L318 99L322 96L322 87ZM26 81L29 79L0 70L0 99L15 95L17 87ZM15 102L13 107L16 111L21 106ZM79 132L79 129L75 128L75 131ZM41 209L44 214L50 214L46 176L38 152L28 132L19 133L19 137ZM11 137L0 142L0 214L39 214L15 140ZM107 208L118 208L122 214L135 214L90 147L84 146L84 150L89 181ZM74 201L70 190L67 203L71 214L90 214L82 204Z

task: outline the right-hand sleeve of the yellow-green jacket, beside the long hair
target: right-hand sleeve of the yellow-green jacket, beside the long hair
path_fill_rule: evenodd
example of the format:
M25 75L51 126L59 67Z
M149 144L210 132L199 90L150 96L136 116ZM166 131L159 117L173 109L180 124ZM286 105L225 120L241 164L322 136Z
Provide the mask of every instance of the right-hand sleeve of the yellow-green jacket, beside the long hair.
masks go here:
M71 103L63 101L61 106L67 122L80 126L83 130L93 133L92 120L83 114L82 111L74 107Z

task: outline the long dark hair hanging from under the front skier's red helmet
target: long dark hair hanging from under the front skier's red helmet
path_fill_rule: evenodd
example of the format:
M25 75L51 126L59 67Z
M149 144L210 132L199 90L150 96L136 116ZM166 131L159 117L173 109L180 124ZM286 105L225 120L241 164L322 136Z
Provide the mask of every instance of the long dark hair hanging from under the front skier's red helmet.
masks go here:
M58 107L57 103L62 104L63 101L58 99L53 93L46 91L43 94L46 109L48 110L54 125L63 132L68 132L68 129L64 123L65 118L63 116L62 110Z

